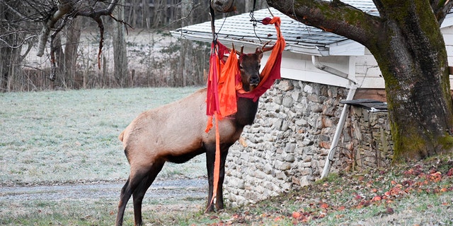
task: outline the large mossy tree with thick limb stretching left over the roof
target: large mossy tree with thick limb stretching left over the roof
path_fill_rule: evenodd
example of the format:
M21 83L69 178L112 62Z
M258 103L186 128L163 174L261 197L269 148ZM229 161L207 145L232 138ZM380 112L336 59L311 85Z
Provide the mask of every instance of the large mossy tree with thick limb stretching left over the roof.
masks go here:
M394 160L452 151L453 103L440 32L442 12L451 4L374 0L378 17L341 1L293 3L268 0L302 23L360 42L374 55L386 84Z

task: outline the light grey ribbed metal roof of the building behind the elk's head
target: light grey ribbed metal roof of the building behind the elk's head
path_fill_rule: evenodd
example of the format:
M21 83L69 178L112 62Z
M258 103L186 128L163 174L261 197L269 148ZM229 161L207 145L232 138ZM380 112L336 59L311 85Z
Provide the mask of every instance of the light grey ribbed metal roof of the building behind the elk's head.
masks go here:
M359 8L366 13L379 16L372 0L343 0L344 3ZM281 31L287 42L287 50L292 52L308 52L311 54L326 55L330 44L348 40L348 38L326 32L319 28L304 25L297 20L289 18L274 8L255 11L254 17L261 20L265 17L280 17L282 20ZM249 47L259 46L262 42L275 40L275 28L273 25L258 23L253 28L249 13L215 20L215 31L220 42L236 42ZM211 22L190 25L172 31L175 36L181 36L188 40L210 42L212 40ZM360 45L357 43L357 45ZM324 52L324 54L322 54Z

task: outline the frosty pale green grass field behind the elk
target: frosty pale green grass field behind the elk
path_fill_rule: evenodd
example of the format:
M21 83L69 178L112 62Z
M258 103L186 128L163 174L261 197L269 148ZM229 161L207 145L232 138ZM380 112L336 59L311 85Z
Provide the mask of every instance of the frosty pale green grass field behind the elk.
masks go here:
M127 179L117 136L140 112L198 88L134 88L0 94L0 185ZM159 175L202 177L204 156Z

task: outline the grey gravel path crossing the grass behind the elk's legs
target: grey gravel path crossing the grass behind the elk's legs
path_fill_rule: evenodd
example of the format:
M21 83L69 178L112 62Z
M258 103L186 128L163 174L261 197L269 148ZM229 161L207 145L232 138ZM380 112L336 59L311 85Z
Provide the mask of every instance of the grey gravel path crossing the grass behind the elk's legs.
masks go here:
M0 187L0 201L60 200L83 198L119 198L124 183L69 184L55 186L6 186ZM147 197L156 199L205 198L206 179L173 179L156 181Z

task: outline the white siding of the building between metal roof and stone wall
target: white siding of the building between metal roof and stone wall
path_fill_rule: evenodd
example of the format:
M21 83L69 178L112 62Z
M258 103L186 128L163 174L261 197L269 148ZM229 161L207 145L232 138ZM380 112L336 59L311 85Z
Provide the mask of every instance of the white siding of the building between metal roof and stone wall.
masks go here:
M442 28L441 31L445 39L449 65L453 66L453 26ZM354 47L353 49L350 49L352 52L350 52L349 55L345 52L345 49L348 49L348 47ZM255 49L245 49L244 52L254 52L254 50ZM362 55L359 54L360 52L362 52ZM354 73L354 75L350 75L349 78L353 81L357 81L358 88L385 88L381 70L379 69L379 66L377 66L376 59L374 59L368 49L361 49L360 47L357 47L357 44L345 41L332 46L331 54L332 53L335 53L336 56L319 57L321 64L331 66L344 73ZM267 61L269 54L269 52L265 53L263 63ZM285 51L283 52L282 57L282 78L336 85L345 88L350 86L350 81L348 81L348 79L340 78L316 69L311 62L311 55L309 54ZM355 66L355 69L350 69L350 66ZM453 76L450 76L450 83L453 84Z

